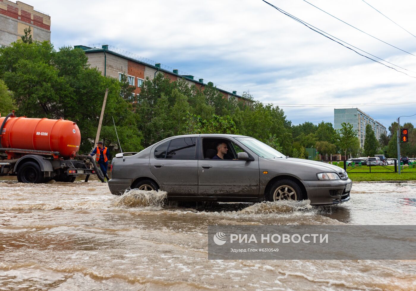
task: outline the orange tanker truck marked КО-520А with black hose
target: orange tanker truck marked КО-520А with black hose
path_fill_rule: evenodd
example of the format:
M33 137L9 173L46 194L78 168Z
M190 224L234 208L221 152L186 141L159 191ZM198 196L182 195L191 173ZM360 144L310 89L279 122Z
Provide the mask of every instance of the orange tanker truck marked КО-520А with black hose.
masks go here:
M77 123L61 119L0 117L0 176L15 175L23 183L54 179L74 182L79 175L101 170L90 155L78 155L81 134Z

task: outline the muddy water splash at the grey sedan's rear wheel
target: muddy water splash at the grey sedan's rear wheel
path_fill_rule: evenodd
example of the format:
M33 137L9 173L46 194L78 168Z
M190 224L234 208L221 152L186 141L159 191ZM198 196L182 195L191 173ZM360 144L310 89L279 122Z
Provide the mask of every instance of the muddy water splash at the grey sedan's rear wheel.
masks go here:
M123 195L114 197L111 205L114 207L153 207L163 208L166 203L168 193L165 191L144 191L138 189L126 190Z

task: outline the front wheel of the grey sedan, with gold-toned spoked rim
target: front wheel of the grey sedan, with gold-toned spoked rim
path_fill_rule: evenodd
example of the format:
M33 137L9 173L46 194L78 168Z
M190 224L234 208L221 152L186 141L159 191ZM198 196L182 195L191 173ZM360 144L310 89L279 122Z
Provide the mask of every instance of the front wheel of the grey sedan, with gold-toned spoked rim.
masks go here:
M302 190L296 182L288 179L276 181L268 193L266 193L267 201L280 200L303 200L305 199Z

